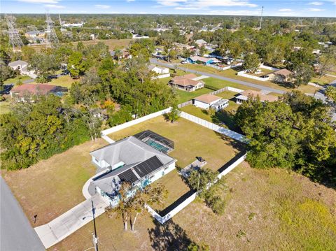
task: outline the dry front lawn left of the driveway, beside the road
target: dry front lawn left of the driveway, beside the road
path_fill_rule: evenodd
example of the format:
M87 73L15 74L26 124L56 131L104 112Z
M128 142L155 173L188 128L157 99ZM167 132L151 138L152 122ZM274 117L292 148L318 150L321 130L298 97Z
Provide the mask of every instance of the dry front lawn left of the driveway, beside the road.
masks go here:
M48 223L85 201L83 185L96 171L90 151L106 144L103 139L87 141L29 168L2 172L33 227Z

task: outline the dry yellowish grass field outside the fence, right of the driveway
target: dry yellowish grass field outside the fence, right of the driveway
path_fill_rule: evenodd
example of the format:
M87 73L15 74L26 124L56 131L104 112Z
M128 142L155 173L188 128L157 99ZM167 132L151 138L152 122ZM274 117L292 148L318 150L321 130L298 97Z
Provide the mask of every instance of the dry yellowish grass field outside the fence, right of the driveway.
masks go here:
M227 176L225 213L193 202L160 226L148 213L135 231L120 219L97 218L99 250L186 250L190 241L210 250L335 250L336 192L286 170L258 170L246 162ZM87 224L50 250L92 246Z

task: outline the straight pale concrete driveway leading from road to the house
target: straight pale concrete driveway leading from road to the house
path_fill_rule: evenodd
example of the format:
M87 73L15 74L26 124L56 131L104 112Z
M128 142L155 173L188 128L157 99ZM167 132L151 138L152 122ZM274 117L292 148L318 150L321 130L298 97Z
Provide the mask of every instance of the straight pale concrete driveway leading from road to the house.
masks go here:
M92 210L92 203L94 209ZM90 199L83 201L74 208L60 215L48 224L36 227L35 231L40 237L45 248L50 248L52 245L59 243L64 238L80 229L88 222L104 213L106 206L109 206L99 194L95 194ZM93 226L92 226L93 230Z

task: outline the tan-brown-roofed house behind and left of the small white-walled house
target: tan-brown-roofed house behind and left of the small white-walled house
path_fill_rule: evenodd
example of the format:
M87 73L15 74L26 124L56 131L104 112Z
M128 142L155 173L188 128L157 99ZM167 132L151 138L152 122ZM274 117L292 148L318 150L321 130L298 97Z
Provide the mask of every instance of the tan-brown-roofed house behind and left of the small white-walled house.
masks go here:
M197 76L193 73L185 76L176 76L169 81L169 85L182 89L183 91L193 92L196 89L204 87L204 82L201 80L195 80Z

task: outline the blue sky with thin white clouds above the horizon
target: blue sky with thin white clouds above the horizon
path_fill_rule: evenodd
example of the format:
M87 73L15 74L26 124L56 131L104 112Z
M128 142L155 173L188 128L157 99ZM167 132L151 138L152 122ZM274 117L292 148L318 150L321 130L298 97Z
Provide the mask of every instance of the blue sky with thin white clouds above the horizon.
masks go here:
M137 13L336 17L336 0L1 0L1 13Z

